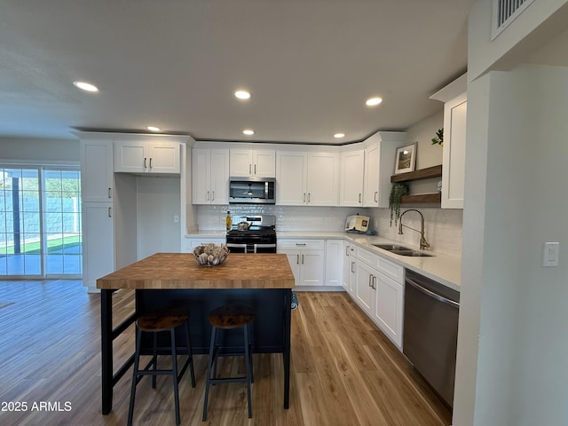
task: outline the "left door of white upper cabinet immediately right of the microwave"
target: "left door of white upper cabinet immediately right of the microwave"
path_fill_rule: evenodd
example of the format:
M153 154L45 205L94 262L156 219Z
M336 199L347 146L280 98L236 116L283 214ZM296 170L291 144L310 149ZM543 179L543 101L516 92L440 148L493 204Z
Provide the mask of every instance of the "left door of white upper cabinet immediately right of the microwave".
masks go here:
M276 154L276 204L303 206L306 201L308 154L278 152Z

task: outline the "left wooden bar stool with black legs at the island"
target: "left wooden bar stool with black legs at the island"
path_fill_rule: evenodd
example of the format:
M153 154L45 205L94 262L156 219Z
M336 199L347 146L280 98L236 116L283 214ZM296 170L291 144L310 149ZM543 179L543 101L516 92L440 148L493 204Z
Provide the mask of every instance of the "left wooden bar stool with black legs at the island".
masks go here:
M144 375L152 375L152 387L156 387L156 375L171 375L174 384L174 404L176 408L176 424L179 424L179 395L177 383L183 377L187 367L190 367L192 376L192 387L195 387L195 374L193 372L193 356L192 356L192 343L189 335L189 315L187 313L172 313L172 312L153 312L140 316L136 321L137 338L136 338L136 352L134 354L134 372L132 374L132 386L130 389L130 406L128 410L128 426L132 424L132 414L134 413L134 398L136 396L136 386ZM181 369L179 375L177 374L177 347L176 347L176 329L185 326L185 341L187 342L187 359ZM157 336L160 332L170 332L170 348L171 348L171 369L158 370L157 358ZM140 361L140 342L142 340L142 333L152 333L154 344L153 354L150 362L143 369L139 369ZM152 369L151 369L152 368Z

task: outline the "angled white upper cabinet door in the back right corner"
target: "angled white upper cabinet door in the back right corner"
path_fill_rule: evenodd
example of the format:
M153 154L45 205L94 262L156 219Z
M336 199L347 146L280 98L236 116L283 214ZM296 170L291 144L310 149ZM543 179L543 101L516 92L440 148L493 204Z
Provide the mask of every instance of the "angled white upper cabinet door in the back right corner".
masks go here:
M361 207L363 205L363 150L341 154L340 206Z

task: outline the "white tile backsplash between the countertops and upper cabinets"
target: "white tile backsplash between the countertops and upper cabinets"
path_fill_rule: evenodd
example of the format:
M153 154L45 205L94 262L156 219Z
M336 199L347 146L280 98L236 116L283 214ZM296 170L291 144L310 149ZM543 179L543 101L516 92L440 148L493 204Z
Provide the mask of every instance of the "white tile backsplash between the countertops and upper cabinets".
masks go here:
M398 234L398 226L390 226L390 210L353 207L293 207L265 205L193 206L197 207L195 219L200 231L225 230L227 210L232 216L273 215L276 231L342 232L345 217L357 213L371 217L371 227L383 238L400 241L418 247L420 235L404 228ZM414 209L414 207L413 207ZM461 209L418 208L424 215L425 237L432 250L449 256L461 256ZM401 209L401 212L405 209ZM420 215L407 213L404 224L420 229Z

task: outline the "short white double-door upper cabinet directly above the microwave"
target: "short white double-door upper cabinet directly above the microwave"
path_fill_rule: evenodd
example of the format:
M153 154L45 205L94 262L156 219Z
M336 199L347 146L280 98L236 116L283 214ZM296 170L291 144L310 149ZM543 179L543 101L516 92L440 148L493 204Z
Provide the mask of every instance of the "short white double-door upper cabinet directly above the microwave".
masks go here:
M231 149L229 174L232 177L276 177L273 149Z

